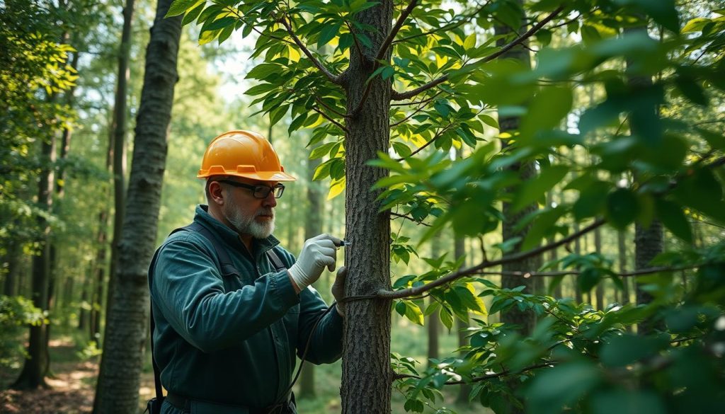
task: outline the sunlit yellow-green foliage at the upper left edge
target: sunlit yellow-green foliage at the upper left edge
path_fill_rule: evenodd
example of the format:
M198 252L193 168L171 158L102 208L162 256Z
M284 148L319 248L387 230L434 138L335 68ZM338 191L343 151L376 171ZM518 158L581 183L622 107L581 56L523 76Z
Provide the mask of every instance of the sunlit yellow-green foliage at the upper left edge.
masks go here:
M0 254L12 243L36 236L35 220L48 212L28 202L37 194L39 144L72 120L57 94L74 85L67 65L73 51L61 42L54 10L37 2L5 1L0 6Z

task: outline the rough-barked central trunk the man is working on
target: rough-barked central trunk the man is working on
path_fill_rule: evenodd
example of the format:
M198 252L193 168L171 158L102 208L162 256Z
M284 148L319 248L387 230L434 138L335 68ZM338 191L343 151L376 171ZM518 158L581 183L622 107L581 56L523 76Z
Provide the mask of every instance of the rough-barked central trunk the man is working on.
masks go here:
M373 46L363 48L365 56L351 53L346 84L348 113L363 98L376 52L391 30L392 14L393 1L382 0L357 15L361 23L372 25L376 32L366 33ZM389 51L384 59L390 59ZM391 287L390 215L378 212L380 204L376 197L380 191L370 191L373 183L388 172L367 165L378 157L378 151L388 150L390 91L390 80L370 80L368 99L360 112L346 121L345 236L353 242L345 252L347 297ZM356 300L346 305L341 384L344 414L390 413L390 306L391 302L385 299Z

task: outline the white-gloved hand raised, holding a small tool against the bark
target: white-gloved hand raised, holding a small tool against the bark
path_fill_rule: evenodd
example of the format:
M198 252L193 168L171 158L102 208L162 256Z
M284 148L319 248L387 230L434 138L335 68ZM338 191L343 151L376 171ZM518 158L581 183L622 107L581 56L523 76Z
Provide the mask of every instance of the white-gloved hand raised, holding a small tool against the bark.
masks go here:
M299 252L299 257L297 257L297 262L287 270L300 291L315 283L320 278L325 266L330 271L335 270L336 244L340 244L340 242L340 239L329 234L320 234L305 241L302 252Z

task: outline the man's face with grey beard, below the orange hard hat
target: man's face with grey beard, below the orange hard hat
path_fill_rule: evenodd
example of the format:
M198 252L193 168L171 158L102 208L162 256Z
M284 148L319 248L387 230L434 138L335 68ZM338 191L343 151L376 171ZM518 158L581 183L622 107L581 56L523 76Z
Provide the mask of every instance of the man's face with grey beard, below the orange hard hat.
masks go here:
M249 178L231 177L228 181L249 184L251 186L276 186L277 181L255 181ZM224 218L240 234L248 234L254 239L265 239L274 231L274 207L277 199L272 192L263 199L253 195L252 189L236 187L228 183L221 184L225 191L225 203L222 208Z

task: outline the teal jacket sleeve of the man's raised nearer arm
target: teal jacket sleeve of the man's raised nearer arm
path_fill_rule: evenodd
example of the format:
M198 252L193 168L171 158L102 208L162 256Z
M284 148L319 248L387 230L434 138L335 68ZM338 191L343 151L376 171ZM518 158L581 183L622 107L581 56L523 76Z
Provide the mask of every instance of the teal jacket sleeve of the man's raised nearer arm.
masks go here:
M168 241L154 267L152 298L175 331L203 352L231 347L299 302L286 271L225 292L211 252L185 235Z

